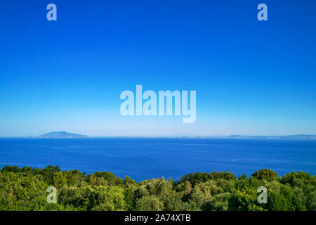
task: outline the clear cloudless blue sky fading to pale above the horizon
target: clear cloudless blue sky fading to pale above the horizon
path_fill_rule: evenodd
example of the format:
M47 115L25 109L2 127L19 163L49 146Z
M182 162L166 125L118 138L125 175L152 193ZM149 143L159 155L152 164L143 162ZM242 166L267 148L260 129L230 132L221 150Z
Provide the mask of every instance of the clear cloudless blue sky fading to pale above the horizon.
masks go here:
M315 15L313 0L4 1L0 136L316 134ZM123 117L136 84L197 91L195 123Z

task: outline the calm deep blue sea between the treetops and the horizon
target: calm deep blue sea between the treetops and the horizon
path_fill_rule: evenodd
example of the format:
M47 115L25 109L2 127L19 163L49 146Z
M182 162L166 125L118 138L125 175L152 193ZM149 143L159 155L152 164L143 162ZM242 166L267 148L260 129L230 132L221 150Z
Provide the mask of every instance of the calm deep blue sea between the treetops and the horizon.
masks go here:
M251 175L269 168L316 174L316 141L254 139L0 139L0 167L107 171L136 181L180 179L191 172Z

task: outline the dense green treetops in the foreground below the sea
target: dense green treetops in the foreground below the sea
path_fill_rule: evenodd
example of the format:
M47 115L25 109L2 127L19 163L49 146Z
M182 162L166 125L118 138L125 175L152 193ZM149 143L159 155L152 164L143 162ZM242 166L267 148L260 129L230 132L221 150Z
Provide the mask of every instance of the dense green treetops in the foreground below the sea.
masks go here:
M47 203L49 186L57 203ZM268 189L268 203L258 203L258 187ZM316 177L291 172L279 178L261 169L247 179L230 172L192 173L180 181L148 179L137 183L110 172L86 176L60 171L6 166L0 171L0 210L316 210Z

